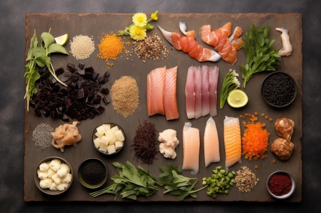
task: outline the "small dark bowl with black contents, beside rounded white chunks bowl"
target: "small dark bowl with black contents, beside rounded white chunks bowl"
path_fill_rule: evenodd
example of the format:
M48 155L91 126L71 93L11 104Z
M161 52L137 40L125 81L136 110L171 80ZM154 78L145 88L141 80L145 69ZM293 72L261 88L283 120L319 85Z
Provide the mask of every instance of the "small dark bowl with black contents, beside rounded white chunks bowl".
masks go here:
M78 167L78 180L86 188L94 189L104 185L108 178L108 170L104 161L88 158Z

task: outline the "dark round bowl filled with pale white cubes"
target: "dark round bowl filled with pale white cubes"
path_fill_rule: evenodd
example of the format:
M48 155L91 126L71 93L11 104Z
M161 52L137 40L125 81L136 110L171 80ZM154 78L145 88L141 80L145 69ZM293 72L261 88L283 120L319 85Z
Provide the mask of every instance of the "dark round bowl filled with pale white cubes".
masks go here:
M104 125L106 125L105 126L106 133L102 134L102 129L100 131L97 131L97 129L102 128L102 126L104 126ZM111 131L113 128L116 128L119 130L118 134L114 133L116 141L113 138L113 139L111 139L112 142L107 142L107 145L106 145L106 140L108 140L106 138L112 138L112 136L110 136L111 133L109 132L109 130ZM101 134L99 134L99 132ZM123 135L123 138L118 137L119 133L121 133ZM104 137L104 136L106 136L106 137ZM125 132L124 132L123 128L121 126L119 126L118 124L115 124L112 122L104 122L102 124L99 124L94 129L94 131L92 133L92 141L93 141L95 149L98 152L100 152L104 155L108 155L108 156L115 155L115 154L119 153L122 150L122 148L125 146L125 139L126 139L126 136L125 136ZM119 143L119 141L121 141L121 140L123 140L122 143ZM108 147L108 146L111 146L111 147ZM115 149L114 152L112 151L113 148Z

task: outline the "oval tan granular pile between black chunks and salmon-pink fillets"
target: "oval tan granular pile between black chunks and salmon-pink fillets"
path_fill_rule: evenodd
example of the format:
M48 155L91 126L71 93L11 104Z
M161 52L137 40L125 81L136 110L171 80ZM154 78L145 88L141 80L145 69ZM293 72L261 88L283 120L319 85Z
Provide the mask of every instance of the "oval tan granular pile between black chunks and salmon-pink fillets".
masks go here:
M110 97L114 109L124 117L131 115L139 104L138 86L134 78L122 76L111 86Z

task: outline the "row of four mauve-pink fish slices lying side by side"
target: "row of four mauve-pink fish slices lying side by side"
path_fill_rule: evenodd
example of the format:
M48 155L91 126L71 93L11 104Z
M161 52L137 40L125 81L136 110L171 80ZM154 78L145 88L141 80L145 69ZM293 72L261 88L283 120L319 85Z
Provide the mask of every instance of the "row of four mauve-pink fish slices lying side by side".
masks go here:
M188 119L217 115L217 66L190 66L185 84L186 114Z

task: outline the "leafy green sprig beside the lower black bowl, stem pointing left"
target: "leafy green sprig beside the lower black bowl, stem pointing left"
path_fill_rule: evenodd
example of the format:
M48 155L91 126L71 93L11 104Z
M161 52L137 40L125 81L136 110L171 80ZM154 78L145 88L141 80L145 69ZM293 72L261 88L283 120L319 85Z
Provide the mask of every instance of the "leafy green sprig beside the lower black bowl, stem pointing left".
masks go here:
M113 162L119 175L114 175L111 179L114 181L111 185L103 188L102 190L90 193L92 197L97 197L105 193L118 195L122 198L136 200L137 196L145 196L149 198L158 191L158 186L162 186L156 178L154 178L147 169L137 166L138 169L129 161L122 164Z

